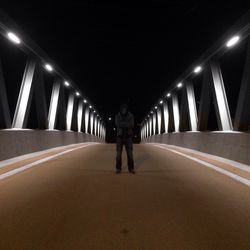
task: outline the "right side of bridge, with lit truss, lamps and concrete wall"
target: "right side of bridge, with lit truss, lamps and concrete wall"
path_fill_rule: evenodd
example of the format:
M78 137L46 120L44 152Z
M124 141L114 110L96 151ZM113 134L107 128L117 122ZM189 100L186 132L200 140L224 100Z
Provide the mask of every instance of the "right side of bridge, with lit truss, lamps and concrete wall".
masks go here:
M249 21L247 13L163 93L142 121L142 142L250 164Z

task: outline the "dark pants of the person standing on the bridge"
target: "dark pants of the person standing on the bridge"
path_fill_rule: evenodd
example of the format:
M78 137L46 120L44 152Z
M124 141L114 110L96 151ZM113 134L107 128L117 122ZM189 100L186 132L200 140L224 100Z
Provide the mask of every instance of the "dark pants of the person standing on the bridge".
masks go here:
M122 148L125 145L127 158L128 158L128 169L134 169L133 159L133 142L131 137L117 137L116 139L116 169L122 168Z

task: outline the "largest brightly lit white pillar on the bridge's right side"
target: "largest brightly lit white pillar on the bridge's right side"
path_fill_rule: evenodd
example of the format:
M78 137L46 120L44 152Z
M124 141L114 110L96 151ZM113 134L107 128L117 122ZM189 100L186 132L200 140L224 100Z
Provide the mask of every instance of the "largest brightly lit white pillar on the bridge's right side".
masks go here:
M218 105L218 112L222 130L233 130L232 119L228 107L227 96L225 92L220 66L217 62L211 62L210 67L213 76L215 97Z

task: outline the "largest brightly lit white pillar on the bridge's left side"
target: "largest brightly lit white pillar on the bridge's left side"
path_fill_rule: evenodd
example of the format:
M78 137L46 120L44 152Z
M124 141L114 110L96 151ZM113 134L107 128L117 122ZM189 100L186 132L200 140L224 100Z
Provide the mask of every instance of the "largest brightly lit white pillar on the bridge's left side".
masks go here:
M29 58L24 70L23 80L13 118L12 128L25 128L27 125L35 66L35 59Z

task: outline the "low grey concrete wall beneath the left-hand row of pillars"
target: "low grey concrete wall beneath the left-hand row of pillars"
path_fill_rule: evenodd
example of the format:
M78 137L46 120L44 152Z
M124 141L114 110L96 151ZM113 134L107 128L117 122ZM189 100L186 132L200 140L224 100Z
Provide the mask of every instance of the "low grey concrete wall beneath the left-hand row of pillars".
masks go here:
M103 142L90 134L56 130L0 130L0 160L81 142Z

